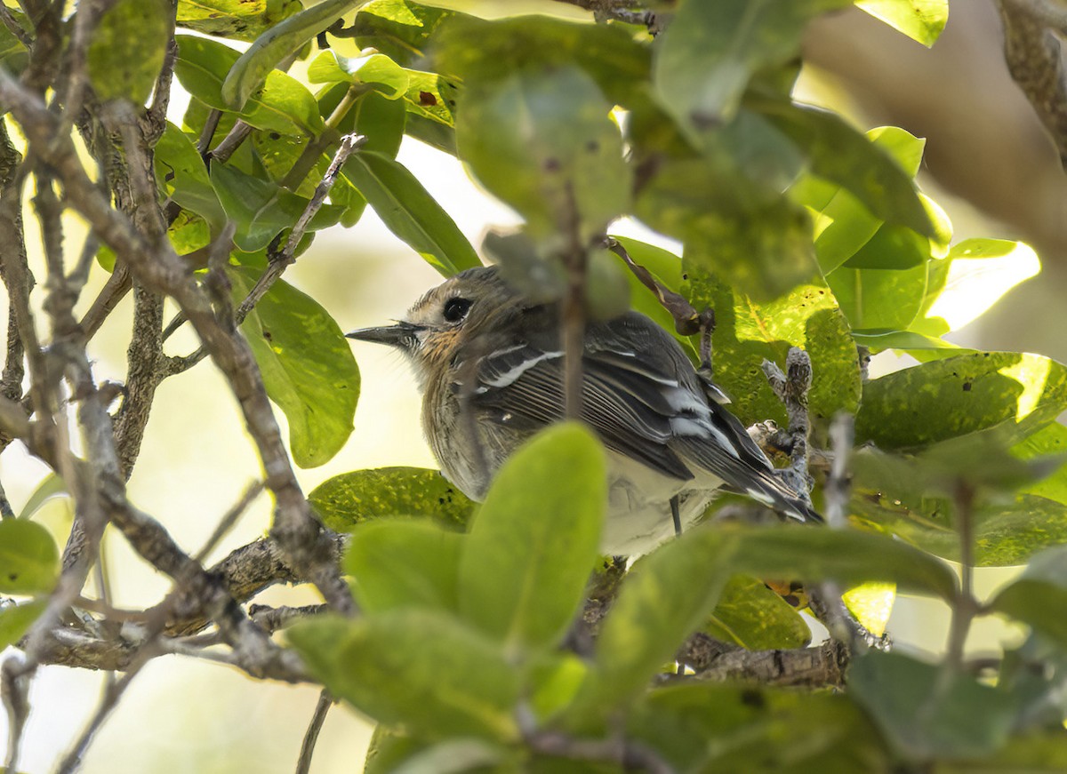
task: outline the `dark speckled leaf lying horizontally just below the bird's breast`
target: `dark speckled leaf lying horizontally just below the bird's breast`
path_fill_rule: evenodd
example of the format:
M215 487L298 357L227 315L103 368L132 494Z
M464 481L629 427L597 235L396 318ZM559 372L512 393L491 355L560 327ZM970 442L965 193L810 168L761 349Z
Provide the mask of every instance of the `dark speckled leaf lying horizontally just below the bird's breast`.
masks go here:
M432 518L463 529L474 511L463 493L426 468L353 470L322 482L307 499L323 523L338 532L391 516Z

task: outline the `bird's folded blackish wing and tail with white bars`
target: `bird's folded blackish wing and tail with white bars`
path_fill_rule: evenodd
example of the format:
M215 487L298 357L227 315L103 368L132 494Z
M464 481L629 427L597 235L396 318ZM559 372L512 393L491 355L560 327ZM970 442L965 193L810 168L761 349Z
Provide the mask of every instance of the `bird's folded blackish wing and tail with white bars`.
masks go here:
M490 421L534 429L562 417L563 353L554 337L524 338L480 358L472 399L492 409ZM707 400L685 353L648 318L590 325L582 366L582 418L608 449L676 479L703 469L801 520L813 514L740 421Z

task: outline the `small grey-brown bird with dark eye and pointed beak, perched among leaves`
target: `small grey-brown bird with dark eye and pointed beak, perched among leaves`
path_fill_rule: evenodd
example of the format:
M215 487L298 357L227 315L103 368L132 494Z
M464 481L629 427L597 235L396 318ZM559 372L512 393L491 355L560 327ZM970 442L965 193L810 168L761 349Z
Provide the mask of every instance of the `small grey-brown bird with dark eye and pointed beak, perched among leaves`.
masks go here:
M442 472L481 500L508 455L563 418L559 320L558 303L531 303L495 268L478 268L426 293L395 325L348 337L408 355ZM608 450L605 552L651 550L695 521L722 486L797 520L822 520L646 316L589 323L582 370L580 416Z

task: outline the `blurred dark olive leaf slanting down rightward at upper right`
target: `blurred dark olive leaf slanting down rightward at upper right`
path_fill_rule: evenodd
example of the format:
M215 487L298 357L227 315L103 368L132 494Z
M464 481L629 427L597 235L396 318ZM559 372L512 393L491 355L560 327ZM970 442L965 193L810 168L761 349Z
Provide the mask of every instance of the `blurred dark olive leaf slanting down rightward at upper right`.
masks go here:
M760 100L750 107L796 142L811 171L848 190L875 216L933 236L910 173L835 113L795 102Z

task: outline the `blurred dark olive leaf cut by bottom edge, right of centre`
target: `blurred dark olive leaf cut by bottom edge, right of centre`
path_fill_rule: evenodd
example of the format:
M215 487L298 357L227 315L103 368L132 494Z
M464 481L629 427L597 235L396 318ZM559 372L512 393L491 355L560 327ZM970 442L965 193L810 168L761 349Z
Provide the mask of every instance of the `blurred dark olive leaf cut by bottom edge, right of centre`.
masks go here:
M656 689L627 735L679 772L889 772L892 758L847 696L689 683Z

